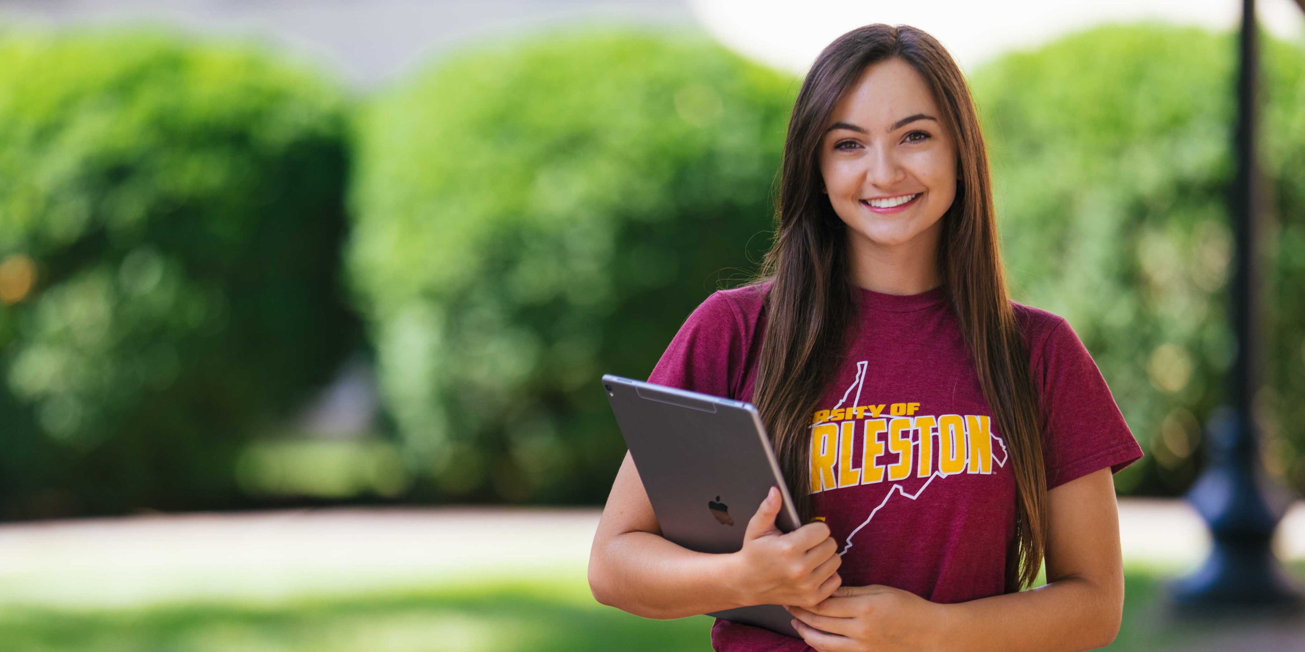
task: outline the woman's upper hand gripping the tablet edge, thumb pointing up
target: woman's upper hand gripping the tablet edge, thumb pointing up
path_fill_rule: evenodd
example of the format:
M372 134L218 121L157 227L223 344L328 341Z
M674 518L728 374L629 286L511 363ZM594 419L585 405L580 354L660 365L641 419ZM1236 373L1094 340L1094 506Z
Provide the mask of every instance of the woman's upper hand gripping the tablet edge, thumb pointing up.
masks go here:
M780 532L775 527L780 505L779 489L771 486L748 520L743 549L731 553L737 562L736 582L746 604L816 606L843 583L838 576L843 563L838 541L818 520Z

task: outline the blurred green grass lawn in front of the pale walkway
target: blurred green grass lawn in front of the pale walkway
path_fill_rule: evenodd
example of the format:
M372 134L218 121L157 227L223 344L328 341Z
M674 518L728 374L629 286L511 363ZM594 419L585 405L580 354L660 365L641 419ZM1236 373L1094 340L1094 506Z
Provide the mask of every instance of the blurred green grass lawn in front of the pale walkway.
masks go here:
M1297 574L1305 567L1297 565ZM1120 636L1111 649L1191 649L1210 627L1164 615L1155 571L1130 569ZM709 652L713 618L655 621L600 605L582 574L427 591L269 604L187 604L130 610L7 605L7 651L440 651Z

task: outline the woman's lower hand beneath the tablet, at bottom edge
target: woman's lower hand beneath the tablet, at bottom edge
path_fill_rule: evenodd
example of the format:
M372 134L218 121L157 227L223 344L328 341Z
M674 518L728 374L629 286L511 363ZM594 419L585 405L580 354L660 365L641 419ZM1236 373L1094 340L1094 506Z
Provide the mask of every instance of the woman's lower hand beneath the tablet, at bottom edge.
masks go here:
M810 609L784 605L793 627L818 652L932 651L942 640L942 609L910 591L838 587Z

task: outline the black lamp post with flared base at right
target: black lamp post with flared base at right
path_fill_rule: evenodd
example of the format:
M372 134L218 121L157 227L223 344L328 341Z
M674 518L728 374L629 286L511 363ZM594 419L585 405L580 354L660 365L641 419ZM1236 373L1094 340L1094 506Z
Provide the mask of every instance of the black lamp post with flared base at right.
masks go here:
M1259 425L1251 403L1261 385L1262 219L1258 147L1258 44L1255 1L1242 0L1237 77L1237 177L1229 192L1236 233L1236 271L1229 308L1237 336L1228 376L1231 404L1207 420L1207 464L1188 501L1210 527L1214 549L1194 574L1176 580L1171 597L1180 612L1249 608L1296 609L1301 592L1274 557L1270 542L1289 496L1259 462Z

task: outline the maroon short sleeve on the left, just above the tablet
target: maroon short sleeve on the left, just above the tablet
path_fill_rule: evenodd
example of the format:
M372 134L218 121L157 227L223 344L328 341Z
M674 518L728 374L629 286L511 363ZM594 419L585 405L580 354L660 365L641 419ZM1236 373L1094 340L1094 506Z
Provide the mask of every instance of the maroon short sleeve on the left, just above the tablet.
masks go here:
M647 382L735 398L745 355L741 325L729 297L713 292L680 326Z

